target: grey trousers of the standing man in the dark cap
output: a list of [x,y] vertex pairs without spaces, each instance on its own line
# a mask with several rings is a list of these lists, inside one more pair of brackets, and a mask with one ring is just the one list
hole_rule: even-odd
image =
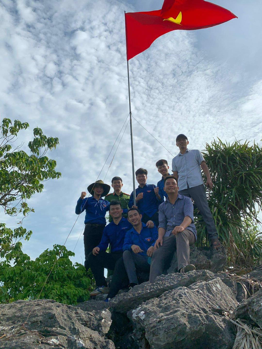
[[187,186],[187,189],[180,190],[179,194],[188,196],[189,198],[192,198],[194,200],[194,203],[196,204],[199,212],[203,217],[204,222],[206,223],[209,239],[218,238],[214,218],[208,206],[204,184],[197,185],[192,188],[189,188],[189,186]]

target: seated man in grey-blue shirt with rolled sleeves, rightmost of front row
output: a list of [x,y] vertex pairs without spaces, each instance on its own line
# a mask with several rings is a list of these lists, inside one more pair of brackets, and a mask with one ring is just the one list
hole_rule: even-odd
[[178,193],[177,179],[165,178],[165,192],[168,198],[159,206],[158,239],[154,245],[149,281],[163,273],[166,263],[176,251],[178,272],[196,270],[189,263],[189,245],[196,241],[193,204],[190,198]]

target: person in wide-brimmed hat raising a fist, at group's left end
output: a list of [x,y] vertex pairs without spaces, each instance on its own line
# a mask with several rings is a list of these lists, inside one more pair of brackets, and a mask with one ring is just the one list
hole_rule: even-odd
[[75,213],[79,215],[86,210],[84,246],[85,246],[85,268],[88,270],[89,265],[87,257],[93,248],[99,245],[105,227],[105,214],[109,210],[110,202],[102,199],[110,191],[110,185],[105,184],[101,179],[95,181],[87,187],[88,192],[92,195],[85,198],[86,192],[82,192],[75,207]]

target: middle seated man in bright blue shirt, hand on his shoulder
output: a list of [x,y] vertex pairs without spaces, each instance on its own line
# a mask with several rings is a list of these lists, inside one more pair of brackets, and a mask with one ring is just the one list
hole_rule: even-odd
[[128,221],[133,225],[124,239],[123,257],[116,262],[114,276],[106,302],[115,297],[122,284],[133,287],[138,284],[137,270],[149,272],[148,258],[152,257],[157,228],[141,222],[142,215],[137,208],[128,210]]

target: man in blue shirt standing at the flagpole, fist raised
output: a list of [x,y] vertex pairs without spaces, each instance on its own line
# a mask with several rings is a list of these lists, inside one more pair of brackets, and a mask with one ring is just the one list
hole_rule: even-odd
[[[151,220],[155,223],[155,226],[158,227],[158,206],[164,201],[164,198],[159,194],[158,188],[154,184],[146,184],[146,169],[138,169],[136,171],[136,179],[139,183],[139,186],[136,189],[136,203],[142,214],[142,222],[146,223],[148,220]],[[134,196],[132,192],[128,207],[131,208],[133,203]]]

